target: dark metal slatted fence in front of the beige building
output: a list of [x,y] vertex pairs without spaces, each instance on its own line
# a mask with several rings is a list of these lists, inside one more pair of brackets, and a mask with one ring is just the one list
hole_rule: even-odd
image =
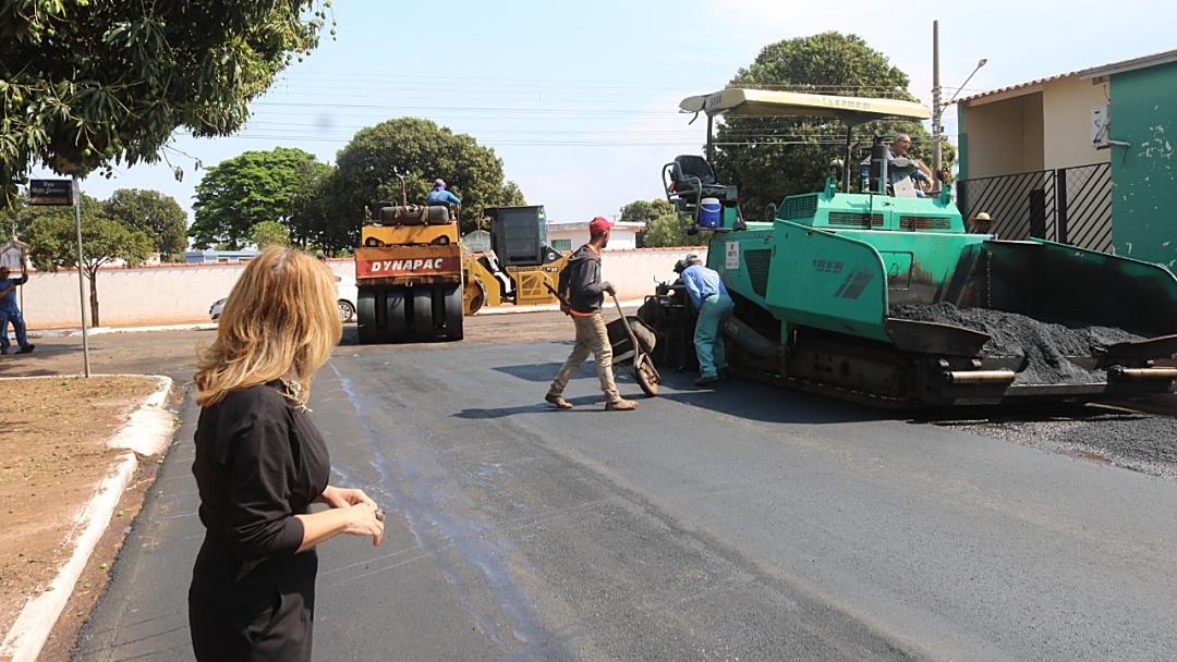
[[1109,163],[960,180],[957,207],[965,219],[989,214],[1002,239],[1033,236],[1112,249]]

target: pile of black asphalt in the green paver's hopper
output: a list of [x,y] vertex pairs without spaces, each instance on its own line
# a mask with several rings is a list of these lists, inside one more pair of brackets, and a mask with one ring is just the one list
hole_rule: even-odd
[[1049,323],[1017,313],[989,308],[957,308],[951,303],[907,305],[891,309],[902,320],[936,322],[979,330],[991,337],[985,342],[985,356],[1020,359],[1015,385],[1098,383],[1108,379],[1105,370],[1086,369],[1068,361],[1068,356],[1092,356],[1099,349],[1141,336],[1116,327],[1068,326]]

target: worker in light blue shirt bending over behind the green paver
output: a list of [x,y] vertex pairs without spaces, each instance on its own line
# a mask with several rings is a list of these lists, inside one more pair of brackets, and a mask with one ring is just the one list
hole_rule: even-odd
[[724,323],[732,316],[736,305],[727,295],[727,286],[714,269],[703,266],[694,253],[683,260],[683,286],[691,303],[699,310],[694,322],[694,354],[699,359],[699,379],[696,386],[709,386],[719,381],[719,374],[727,369],[724,352]]

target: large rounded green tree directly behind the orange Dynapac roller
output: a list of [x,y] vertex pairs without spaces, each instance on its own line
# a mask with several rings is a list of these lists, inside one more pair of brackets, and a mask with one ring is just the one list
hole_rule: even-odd
[[399,203],[401,182],[408,203],[423,205],[433,180],[445,180],[461,199],[461,232],[476,228],[484,207],[521,203],[514,182],[504,182],[494,149],[466,134],[454,134],[430,120],[401,118],[363,128],[335,158],[332,222],[346,228],[351,246],[359,241],[364,208],[381,200]]

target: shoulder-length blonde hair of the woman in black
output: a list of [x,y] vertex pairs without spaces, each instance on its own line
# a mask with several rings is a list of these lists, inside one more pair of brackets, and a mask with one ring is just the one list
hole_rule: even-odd
[[339,343],[331,269],[294,248],[271,247],[233,286],[212,347],[197,349],[197,403],[215,404],[240,388],[285,379],[305,407],[314,372]]

